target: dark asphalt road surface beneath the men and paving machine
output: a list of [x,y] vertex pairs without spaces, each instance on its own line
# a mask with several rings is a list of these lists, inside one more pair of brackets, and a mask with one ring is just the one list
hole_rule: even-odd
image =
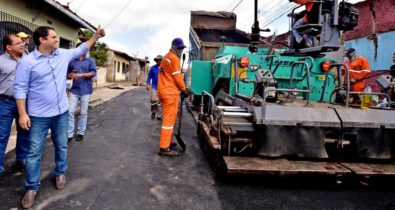
[[[90,110],[84,140],[69,144],[68,185],[60,191],[48,140],[34,209],[395,209],[393,179],[366,187],[330,177],[217,177],[184,111],[187,151],[169,158],[157,154],[160,121],[150,119],[144,88]],[[23,174],[8,170],[0,178],[0,209],[20,208],[23,192]]]

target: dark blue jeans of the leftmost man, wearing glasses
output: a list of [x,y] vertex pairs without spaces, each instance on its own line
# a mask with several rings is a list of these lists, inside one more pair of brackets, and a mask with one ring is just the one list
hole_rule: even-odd
[[12,121],[14,119],[17,129],[15,148],[16,160],[24,162],[28,152],[29,132],[23,130],[21,126],[19,126],[19,115],[15,99],[8,99],[0,96],[0,173],[4,171],[4,153],[7,148]]

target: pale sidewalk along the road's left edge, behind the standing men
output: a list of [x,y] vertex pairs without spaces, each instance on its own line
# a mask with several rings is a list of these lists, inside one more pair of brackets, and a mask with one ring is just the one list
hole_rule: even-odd
[[[98,86],[95,86],[89,101],[89,109],[93,109],[97,106],[100,106],[103,103],[106,103],[107,101],[137,87],[138,86],[132,86],[131,82],[120,82],[117,84],[103,83]],[[10,139],[8,140],[8,145],[5,154],[14,150],[15,144],[16,144],[16,131],[15,131],[15,124],[13,124]]]

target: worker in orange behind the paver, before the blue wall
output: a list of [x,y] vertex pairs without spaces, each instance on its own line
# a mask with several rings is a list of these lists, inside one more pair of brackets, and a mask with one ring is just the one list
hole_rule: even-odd
[[[354,48],[345,51],[347,58],[345,64],[350,72],[350,91],[363,92],[365,89],[365,78],[370,74],[370,65],[368,59],[357,55]],[[354,95],[353,101],[358,102],[359,96]]]

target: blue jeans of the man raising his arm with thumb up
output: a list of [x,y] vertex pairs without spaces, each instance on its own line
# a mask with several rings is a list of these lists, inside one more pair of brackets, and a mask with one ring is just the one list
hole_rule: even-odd
[[45,139],[51,129],[51,138],[55,147],[55,176],[67,170],[67,118],[68,112],[54,117],[30,116],[29,154],[26,159],[25,188],[38,191],[40,188],[41,157]]

